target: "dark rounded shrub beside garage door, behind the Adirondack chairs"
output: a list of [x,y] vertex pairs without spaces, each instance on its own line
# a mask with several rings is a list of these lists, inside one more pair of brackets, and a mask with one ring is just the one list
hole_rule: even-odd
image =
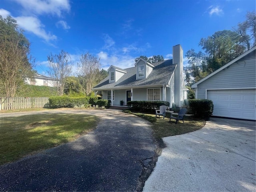
[[188,111],[194,114],[195,117],[208,119],[213,112],[213,102],[208,99],[186,99],[184,106]]

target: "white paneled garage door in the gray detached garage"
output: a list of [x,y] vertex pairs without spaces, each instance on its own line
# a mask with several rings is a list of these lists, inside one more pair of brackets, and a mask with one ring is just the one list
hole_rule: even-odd
[[208,90],[213,101],[213,116],[256,119],[256,90]]

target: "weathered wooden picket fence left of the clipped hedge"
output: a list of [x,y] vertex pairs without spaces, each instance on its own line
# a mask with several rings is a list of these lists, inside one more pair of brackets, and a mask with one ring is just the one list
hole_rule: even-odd
[[48,97],[9,97],[0,99],[0,110],[49,107]]

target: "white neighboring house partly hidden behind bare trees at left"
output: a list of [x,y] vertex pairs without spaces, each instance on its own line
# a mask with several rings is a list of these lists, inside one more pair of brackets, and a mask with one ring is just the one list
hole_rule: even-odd
[[44,75],[36,73],[33,80],[27,79],[26,83],[29,85],[38,85],[38,86],[49,86],[53,87],[55,79],[46,77]]

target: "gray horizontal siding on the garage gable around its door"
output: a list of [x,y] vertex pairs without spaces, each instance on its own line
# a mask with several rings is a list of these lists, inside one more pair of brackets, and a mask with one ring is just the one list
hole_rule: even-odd
[[[255,54],[255,52],[254,52]],[[254,88],[256,87],[256,60],[239,60],[228,68],[198,84],[197,98],[206,98],[206,89]]]

